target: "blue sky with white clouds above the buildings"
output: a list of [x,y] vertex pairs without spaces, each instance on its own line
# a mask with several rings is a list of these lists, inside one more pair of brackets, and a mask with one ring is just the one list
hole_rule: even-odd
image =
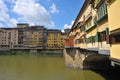
[[0,0],[0,27],[28,23],[63,31],[71,28],[83,3],[84,0]]

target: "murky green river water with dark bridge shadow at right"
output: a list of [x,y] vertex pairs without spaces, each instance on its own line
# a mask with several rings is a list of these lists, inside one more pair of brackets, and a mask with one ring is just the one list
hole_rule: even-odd
[[119,80],[115,72],[68,69],[62,57],[0,56],[0,80]]

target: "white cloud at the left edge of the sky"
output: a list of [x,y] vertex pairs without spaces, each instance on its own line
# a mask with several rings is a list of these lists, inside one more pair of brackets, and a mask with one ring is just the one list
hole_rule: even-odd
[[[18,21],[14,18],[10,18],[10,15],[8,14],[9,10],[3,0],[0,0],[0,5],[1,5],[0,6],[0,21],[6,23],[7,26],[9,26],[9,27],[15,27],[16,26],[15,24]],[[2,23],[0,25],[3,27],[6,27]]]

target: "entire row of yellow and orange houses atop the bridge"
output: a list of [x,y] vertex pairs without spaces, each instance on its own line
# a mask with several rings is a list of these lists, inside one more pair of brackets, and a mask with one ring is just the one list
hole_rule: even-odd
[[89,54],[95,51],[110,56],[113,66],[120,65],[119,3],[119,0],[85,0],[65,47],[77,47],[83,51],[81,53],[84,50]]

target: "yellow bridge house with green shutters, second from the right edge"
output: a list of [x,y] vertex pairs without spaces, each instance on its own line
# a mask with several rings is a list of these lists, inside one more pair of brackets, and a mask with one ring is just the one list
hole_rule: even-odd
[[110,55],[107,2],[106,0],[93,0],[92,4],[94,10],[97,12],[98,29],[96,39],[99,46],[99,53]]

